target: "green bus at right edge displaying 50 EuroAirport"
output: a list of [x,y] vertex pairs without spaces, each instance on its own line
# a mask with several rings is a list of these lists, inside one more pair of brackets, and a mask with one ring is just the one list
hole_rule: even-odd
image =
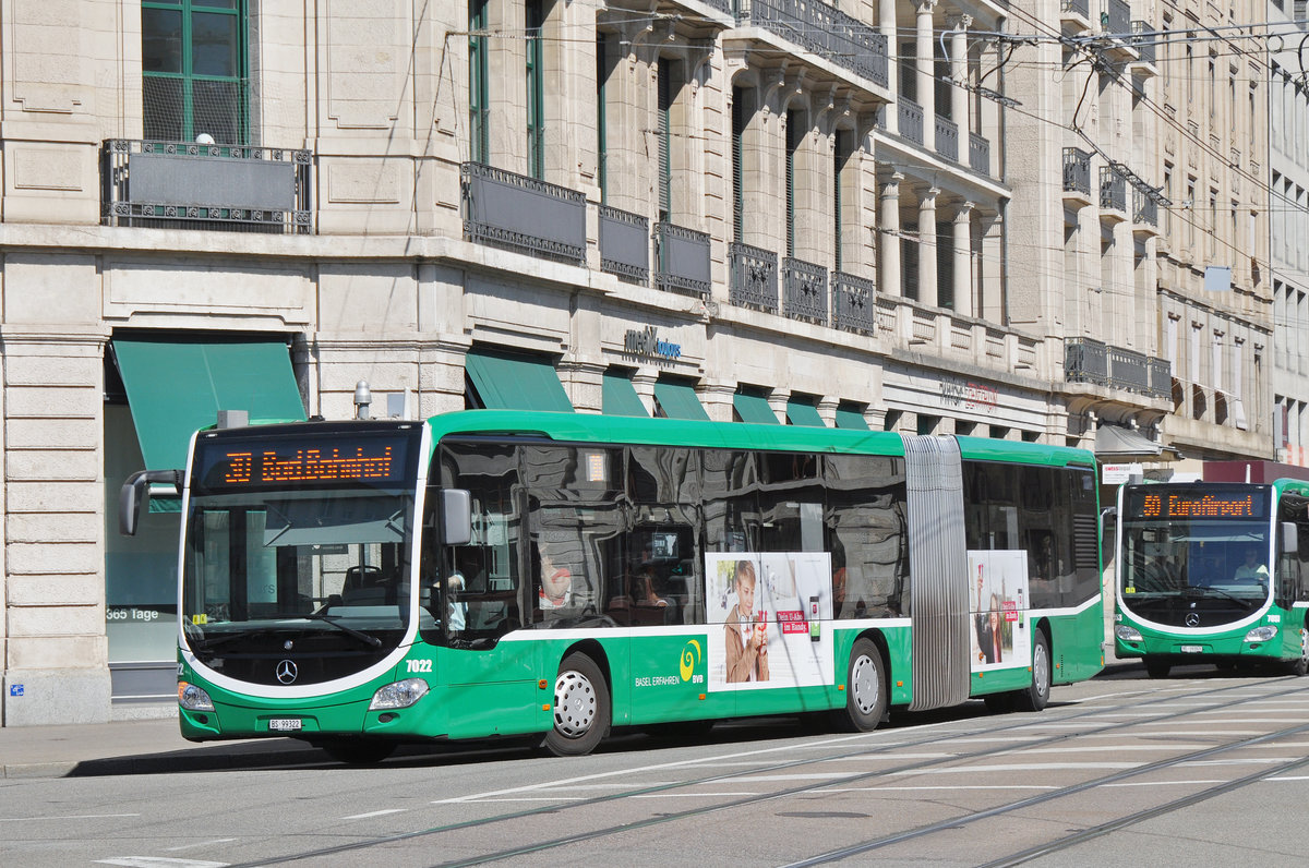
[[1119,657],[1309,672],[1309,482],[1126,484],[1117,539]]

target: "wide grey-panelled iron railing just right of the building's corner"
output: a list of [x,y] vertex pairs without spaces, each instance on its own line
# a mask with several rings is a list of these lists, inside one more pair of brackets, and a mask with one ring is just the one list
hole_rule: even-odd
[[586,263],[586,194],[480,162],[461,166],[463,237]]

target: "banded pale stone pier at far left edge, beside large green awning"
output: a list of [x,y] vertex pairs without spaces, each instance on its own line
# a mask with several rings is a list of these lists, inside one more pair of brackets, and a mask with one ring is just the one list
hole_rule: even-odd
[[107,340],[107,330],[92,323],[5,325],[0,331],[5,460],[0,702],[7,727],[109,720],[103,556],[109,480],[102,479]]

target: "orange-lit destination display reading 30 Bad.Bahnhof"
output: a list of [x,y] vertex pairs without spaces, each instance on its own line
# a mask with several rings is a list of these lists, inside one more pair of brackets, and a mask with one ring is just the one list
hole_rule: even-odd
[[208,491],[315,483],[397,484],[407,479],[403,437],[206,444],[199,486]]

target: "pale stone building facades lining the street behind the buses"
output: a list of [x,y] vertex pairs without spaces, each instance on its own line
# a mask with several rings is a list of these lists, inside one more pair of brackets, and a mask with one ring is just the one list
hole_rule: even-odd
[[[347,418],[360,381],[374,415],[493,405],[473,374],[496,359],[558,376],[579,412],[635,394],[1263,456],[1267,275],[1236,263],[1211,301],[1210,242],[1169,246],[1119,179],[1175,202],[1194,164],[1238,232],[1263,194],[1141,107],[1175,97],[1134,16],[1063,5],[5,7],[4,724],[168,699],[178,515],[164,499],[124,539],[117,496],[219,410]],[[1204,350],[1220,321],[1240,388],[1178,376],[1190,323]]]

